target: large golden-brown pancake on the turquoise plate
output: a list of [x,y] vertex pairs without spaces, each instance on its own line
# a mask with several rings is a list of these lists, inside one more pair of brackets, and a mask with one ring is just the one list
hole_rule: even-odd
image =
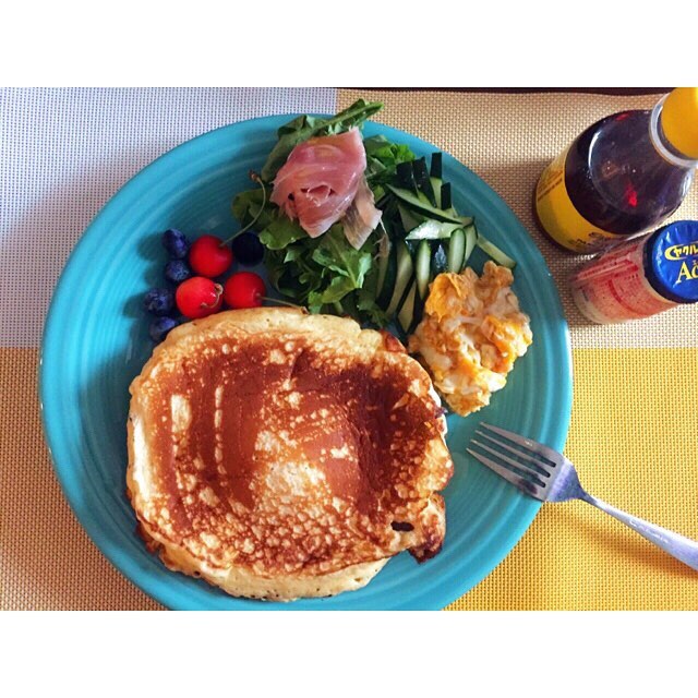
[[172,330],[131,395],[129,495],[172,569],[290,600],[442,546],[443,411],[386,333],[293,309],[219,313]]

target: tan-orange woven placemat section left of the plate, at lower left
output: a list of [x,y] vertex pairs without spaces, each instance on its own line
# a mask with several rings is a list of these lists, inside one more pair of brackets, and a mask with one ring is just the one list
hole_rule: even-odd
[[159,604],[87,538],[41,437],[38,349],[0,349],[0,610],[140,610]]

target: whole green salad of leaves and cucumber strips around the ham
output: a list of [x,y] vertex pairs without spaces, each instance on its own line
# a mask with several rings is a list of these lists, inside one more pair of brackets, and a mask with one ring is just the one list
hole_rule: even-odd
[[293,303],[377,327],[397,321],[409,333],[421,320],[430,281],[445,270],[461,272],[476,245],[498,264],[514,266],[477,231],[471,217],[452,205],[441,153],[432,155],[428,169],[425,158],[407,145],[382,135],[364,139],[365,178],[382,219],[359,250],[348,242],[341,221],[311,238],[268,196],[276,172],[299,143],[360,128],[381,108],[360,99],[329,119],[302,116],[281,127],[261,178],[253,174],[261,188],[238,194],[232,213],[241,226],[258,232],[269,280]]

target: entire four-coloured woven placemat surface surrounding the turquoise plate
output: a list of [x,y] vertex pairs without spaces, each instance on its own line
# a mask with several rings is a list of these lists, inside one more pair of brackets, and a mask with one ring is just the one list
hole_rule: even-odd
[[[698,538],[698,306],[588,324],[566,288],[578,258],[535,228],[545,165],[594,120],[654,94],[333,88],[0,91],[0,609],[159,609],[86,537],[53,476],[38,412],[44,317],[77,238],[152,159],[210,129],[382,99],[381,121],[455,155],[509,204],[558,285],[573,341],[567,456],[588,489]],[[674,218],[698,218],[694,186]],[[698,575],[582,503],[544,506],[521,542],[450,610],[698,607]]]

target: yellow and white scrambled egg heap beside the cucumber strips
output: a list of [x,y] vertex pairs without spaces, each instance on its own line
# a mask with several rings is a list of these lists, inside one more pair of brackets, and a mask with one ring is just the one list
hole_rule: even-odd
[[485,263],[482,277],[471,268],[440,274],[410,337],[409,350],[421,354],[436,389],[464,417],[490,404],[533,340],[513,281],[494,262]]

